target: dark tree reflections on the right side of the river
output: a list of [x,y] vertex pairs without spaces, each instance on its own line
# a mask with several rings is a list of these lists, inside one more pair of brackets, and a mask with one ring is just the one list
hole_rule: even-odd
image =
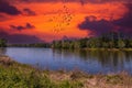
[[[96,62],[96,65],[101,66],[94,68],[98,69],[98,73],[107,73],[107,72],[129,72],[132,73],[132,52],[123,52],[123,51],[65,51],[59,50],[55,51],[56,53],[65,56],[76,55],[81,59],[81,62]],[[92,66],[91,66],[92,69]],[[103,72],[103,69],[106,72]],[[90,72],[90,70],[89,70]]]

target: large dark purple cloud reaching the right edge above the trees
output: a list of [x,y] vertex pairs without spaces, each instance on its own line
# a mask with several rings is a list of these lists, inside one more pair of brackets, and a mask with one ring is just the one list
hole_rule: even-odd
[[[84,22],[78,24],[80,30],[91,31],[96,35],[111,31],[120,31],[125,34],[132,34],[132,4],[125,4],[129,9],[129,12],[119,20],[107,21],[107,20],[97,20],[96,16],[87,16]],[[117,29],[117,26],[119,26]]]

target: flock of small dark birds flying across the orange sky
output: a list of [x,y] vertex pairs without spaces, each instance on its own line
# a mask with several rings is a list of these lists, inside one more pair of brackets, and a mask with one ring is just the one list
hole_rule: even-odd
[[[74,19],[75,14],[72,12],[66,4],[68,1],[63,0],[63,8],[56,10],[56,15],[54,15],[50,22],[54,22],[53,31],[56,34],[64,31],[67,26],[72,24],[72,20]],[[80,4],[84,6],[84,0],[80,0]]]

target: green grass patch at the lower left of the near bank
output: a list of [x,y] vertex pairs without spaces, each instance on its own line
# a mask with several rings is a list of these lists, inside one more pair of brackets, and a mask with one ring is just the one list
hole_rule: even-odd
[[63,80],[54,82],[48,73],[28,65],[13,63],[0,65],[0,88],[81,88],[79,81]]

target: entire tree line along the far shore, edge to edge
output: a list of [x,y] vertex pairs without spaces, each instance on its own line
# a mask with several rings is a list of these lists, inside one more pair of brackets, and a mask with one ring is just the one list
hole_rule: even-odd
[[53,43],[34,44],[7,44],[7,40],[0,38],[0,47],[52,47],[52,48],[132,48],[132,37],[123,33],[110,32],[95,37],[79,40],[63,38]]

